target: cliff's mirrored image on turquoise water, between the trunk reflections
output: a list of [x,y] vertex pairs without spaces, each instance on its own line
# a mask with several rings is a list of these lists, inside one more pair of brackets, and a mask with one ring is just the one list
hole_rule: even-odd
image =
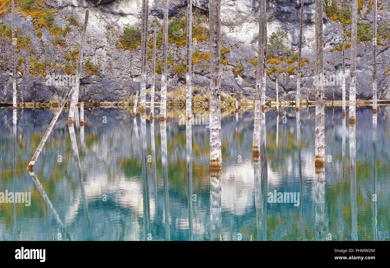
[[[389,123],[388,111],[378,109],[377,126],[377,170],[376,191],[381,198],[377,202],[377,236],[381,240],[388,235],[388,163],[389,155]],[[18,109],[18,137],[16,184],[19,191],[32,191],[33,204],[30,208],[17,205],[16,229],[19,233],[29,233],[27,239],[54,239],[60,232],[57,223],[53,223],[54,215],[47,209],[43,198],[37,191],[31,177],[25,172],[25,166],[31,158],[35,147],[49,124],[52,112],[47,109]],[[299,179],[299,158],[296,144],[296,113],[293,109],[281,109],[279,118],[279,140],[276,147],[276,111],[267,109],[265,113],[266,145],[267,145],[267,191],[301,191],[306,237],[316,239],[316,226],[328,222],[326,226],[334,239],[348,239],[351,236],[351,185],[349,172],[342,179],[342,126],[341,111],[326,110],[326,154],[332,156],[324,171],[326,184],[318,184],[312,161],[314,155],[314,109],[300,111],[301,127],[301,165],[302,190]],[[180,113],[176,111],[176,114]],[[365,107],[357,109],[356,125],[356,207],[370,211],[373,207],[369,200],[359,198],[372,191],[372,180],[367,180],[372,172],[371,119],[367,114],[372,110]],[[148,113],[147,113],[148,114]],[[103,124],[102,117],[107,117]],[[220,186],[213,184],[213,195],[220,195],[220,214],[216,210],[214,226],[220,230],[222,238],[236,239],[238,232],[243,240],[255,234],[256,198],[259,200],[259,185],[255,185],[254,167],[252,164],[253,111],[240,111],[239,120],[235,114],[225,114],[222,119],[223,162]],[[283,123],[285,116],[285,123]],[[88,217],[91,235],[86,234],[84,205],[76,161],[74,159],[71,139],[67,126],[67,114],[62,114],[55,125],[47,145],[38,159],[34,171],[38,175],[44,190],[55,207],[59,218],[72,233],[72,239],[144,239],[144,200],[149,200],[150,229],[152,239],[166,239],[165,200],[163,171],[161,165],[160,124],[154,123],[156,147],[157,186],[154,188],[153,165],[147,164],[147,184],[149,193],[145,193],[142,181],[142,132],[146,133],[147,155],[151,154],[151,129],[146,118],[146,131],[142,130],[137,117],[138,138],[133,127],[131,114],[121,109],[96,108],[86,110],[87,126],[84,128],[85,148],[81,146],[80,129],[75,128],[76,141],[80,154],[85,199],[88,204]],[[34,121],[35,120],[35,121]],[[39,121],[38,121],[39,120]],[[178,125],[179,118],[168,117],[167,129],[167,189],[170,238],[188,239],[188,185],[186,180],[186,126]],[[360,124],[359,124],[360,122]],[[251,125],[252,124],[252,125]],[[0,109],[1,180],[0,191],[13,187],[13,130],[12,109]],[[347,128],[348,129],[348,128]],[[363,131],[368,129],[369,131]],[[211,229],[210,219],[210,176],[208,130],[204,125],[192,125],[192,192],[197,195],[193,202],[193,238],[208,239]],[[346,131],[346,169],[349,170],[349,135]],[[3,154],[4,152],[4,154]],[[57,156],[62,155],[62,162]],[[238,162],[241,155],[242,162]],[[326,158],[327,159],[327,158]],[[264,163],[262,163],[264,164]],[[263,174],[263,172],[262,172]],[[321,187],[320,187],[321,186]],[[353,188],[355,192],[355,188]],[[219,191],[219,193],[218,193]],[[217,194],[218,193],[218,194]],[[103,195],[107,202],[102,202]],[[148,196],[148,197],[147,197]],[[8,209],[0,204],[0,238],[11,239],[13,228],[13,208]],[[215,207],[216,209],[218,206]],[[297,239],[302,237],[301,208],[292,204],[267,204],[266,225],[261,231],[267,239]],[[316,220],[317,212],[317,220]],[[259,215],[264,213],[259,210]],[[372,213],[368,213],[372,215]],[[220,216],[218,216],[220,215]],[[149,217],[149,216],[147,216]],[[386,218],[387,217],[387,218]],[[10,220],[11,219],[11,220]],[[24,224],[25,222],[31,224]],[[220,221],[220,222],[219,222]],[[264,220],[262,220],[264,222]],[[356,224],[355,224],[356,223]],[[317,224],[317,225],[316,225]],[[354,222],[356,230],[372,230],[372,219],[368,221],[357,218]],[[355,230],[354,226],[354,230]],[[217,230],[215,229],[215,230]],[[340,231],[339,231],[340,230]],[[372,231],[371,231],[372,232]],[[339,234],[335,238],[335,234]],[[219,236],[218,236],[219,237]],[[360,237],[359,237],[360,238]]]

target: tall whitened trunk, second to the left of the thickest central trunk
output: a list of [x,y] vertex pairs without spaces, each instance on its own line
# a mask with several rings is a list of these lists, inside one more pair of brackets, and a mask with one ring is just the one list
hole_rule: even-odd
[[160,120],[167,118],[168,0],[164,0],[163,64],[161,69]]

